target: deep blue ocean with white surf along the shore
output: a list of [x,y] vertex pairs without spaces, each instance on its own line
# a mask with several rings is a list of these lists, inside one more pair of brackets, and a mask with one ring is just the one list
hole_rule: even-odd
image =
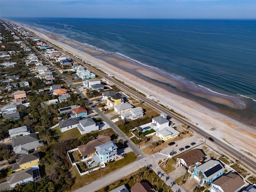
[[[100,50],[105,54],[95,56],[103,60],[116,56],[152,68],[181,86],[155,83],[256,126],[256,20],[6,19]],[[193,90],[229,98],[237,107]]]

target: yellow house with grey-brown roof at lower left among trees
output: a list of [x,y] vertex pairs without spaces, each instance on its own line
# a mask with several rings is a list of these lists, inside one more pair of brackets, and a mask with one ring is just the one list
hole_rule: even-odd
[[27,169],[32,166],[38,165],[40,156],[38,152],[34,152],[28,155],[24,155],[16,160],[16,163],[12,164],[12,171],[20,171],[22,169]]

